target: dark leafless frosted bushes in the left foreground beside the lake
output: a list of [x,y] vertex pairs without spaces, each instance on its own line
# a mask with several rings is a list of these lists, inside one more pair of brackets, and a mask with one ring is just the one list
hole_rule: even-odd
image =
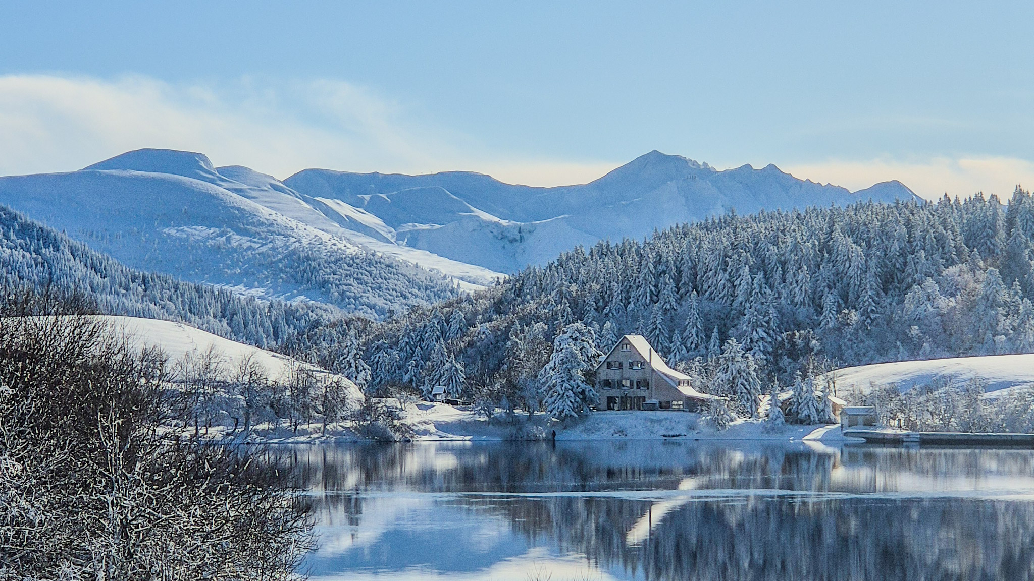
[[287,472],[176,429],[162,358],[48,306],[0,311],[2,576],[292,578],[311,523]]

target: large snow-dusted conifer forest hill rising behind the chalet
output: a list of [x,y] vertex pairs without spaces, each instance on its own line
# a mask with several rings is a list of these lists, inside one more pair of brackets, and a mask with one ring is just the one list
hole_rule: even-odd
[[461,368],[469,395],[512,401],[557,329],[579,320],[601,348],[641,333],[673,362],[736,338],[781,381],[811,356],[861,364],[1030,351],[1032,240],[1034,203],[1018,188],[1007,206],[978,194],[727,215],[576,248],[414,310],[370,337],[367,357],[375,381],[419,388]]

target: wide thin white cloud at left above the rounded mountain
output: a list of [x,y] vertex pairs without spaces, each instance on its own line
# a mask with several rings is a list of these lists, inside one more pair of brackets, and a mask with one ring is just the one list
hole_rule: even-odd
[[72,171],[145,147],[199,151],[217,165],[247,165],[279,178],[306,167],[469,170],[555,185],[595,179],[616,165],[500,161],[463,151],[454,143],[470,140],[450,142],[448,132],[406,121],[404,114],[398,103],[334,81],[243,79],[213,87],[144,77],[4,75],[0,175]]

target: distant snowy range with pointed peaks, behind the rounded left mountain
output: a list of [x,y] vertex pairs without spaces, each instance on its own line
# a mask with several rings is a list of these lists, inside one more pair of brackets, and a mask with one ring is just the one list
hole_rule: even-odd
[[[305,170],[283,183],[331,209],[343,209],[341,218],[334,218],[343,227],[374,230],[385,241],[504,272],[545,263],[579,244],[638,239],[729,209],[747,214],[915,197],[900,182],[852,193],[799,180],[770,164],[719,172],[658,151],[588,184],[552,188],[510,185],[469,172],[405,176]],[[357,212],[361,219],[353,216]]]

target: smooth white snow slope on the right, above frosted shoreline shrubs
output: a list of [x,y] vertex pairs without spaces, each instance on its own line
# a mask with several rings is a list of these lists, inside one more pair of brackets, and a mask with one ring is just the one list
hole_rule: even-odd
[[935,380],[962,384],[973,378],[987,383],[987,391],[1034,388],[1034,355],[956,357],[845,367],[835,372],[837,389],[869,391],[872,386],[896,384],[902,390]]

